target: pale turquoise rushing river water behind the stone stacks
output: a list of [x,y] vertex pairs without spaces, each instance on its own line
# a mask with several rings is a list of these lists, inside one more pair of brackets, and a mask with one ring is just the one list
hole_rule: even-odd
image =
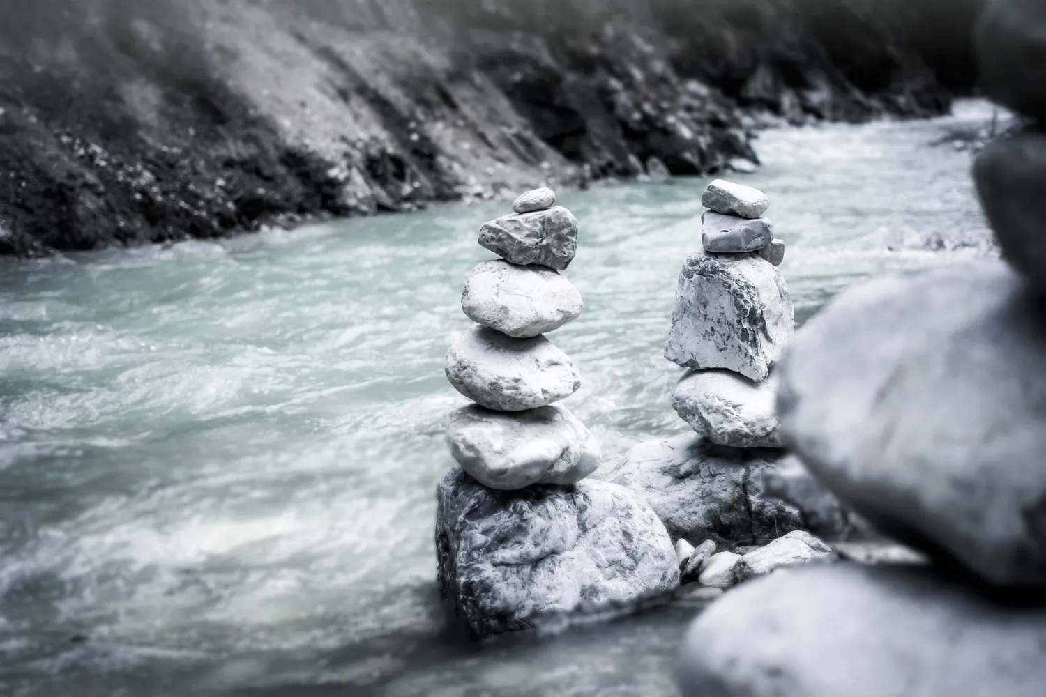
[[[986,118],[766,132],[801,323],[863,278],[993,253]],[[608,458],[685,432],[661,357],[705,180],[561,196],[579,320],[552,334]],[[442,357],[504,203],[0,264],[0,694],[673,695],[680,603],[463,638],[434,582]]]

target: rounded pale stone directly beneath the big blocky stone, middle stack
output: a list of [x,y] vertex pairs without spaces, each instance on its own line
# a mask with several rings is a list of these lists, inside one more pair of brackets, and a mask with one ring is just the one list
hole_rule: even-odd
[[752,382],[727,370],[687,373],[672,391],[672,405],[695,433],[732,447],[780,447],[777,379]]

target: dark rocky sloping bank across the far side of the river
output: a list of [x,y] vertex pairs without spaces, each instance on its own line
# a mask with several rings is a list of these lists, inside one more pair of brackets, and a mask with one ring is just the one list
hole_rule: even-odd
[[770,117],[946,111],[980,4],[3,3],[0,252],[723,170]]

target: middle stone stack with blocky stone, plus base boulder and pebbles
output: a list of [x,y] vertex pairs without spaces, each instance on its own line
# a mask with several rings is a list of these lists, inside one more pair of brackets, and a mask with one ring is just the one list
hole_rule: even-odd
[[[636,446],[607,480],[651,502],[678,540],[684,578],[726,587],[738,580],[735,571],[768,567],[728,549],[791,534],[758,559],[817,558],[829,550],[805,531],[840,536],[846,519],[831,496],[822,510],[806,511],[765,483],[789,462],[780,449],[773,367],[795,323],[776,269],[784,243],[763,217],[770,201],[757,189],[717,180],[702,204],[709,209],[702,216],[703,250],[687,258],[679,276],[664,351],[689,369],[673,391],[673,405],[696,435]],[[724,551],[714,554],[719,548]]]

